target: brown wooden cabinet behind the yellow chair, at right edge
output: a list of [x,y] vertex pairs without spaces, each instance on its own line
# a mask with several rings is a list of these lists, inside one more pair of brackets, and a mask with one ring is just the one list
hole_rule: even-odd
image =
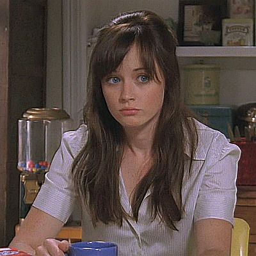
[[249,256],[256,255],[256,186],[237,187],[235,216],[250,225]]

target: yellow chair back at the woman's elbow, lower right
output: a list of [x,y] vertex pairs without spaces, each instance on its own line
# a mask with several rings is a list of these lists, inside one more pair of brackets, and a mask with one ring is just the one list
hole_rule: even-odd
[[231,256],[248,256],[250,226],[240,218],[235,218],[232,230]]

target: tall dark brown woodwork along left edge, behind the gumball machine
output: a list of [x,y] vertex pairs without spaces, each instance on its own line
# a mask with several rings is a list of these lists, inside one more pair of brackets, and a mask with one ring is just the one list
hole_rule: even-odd
[[0,246],[19,223],[17,120],[45,106],[45,0],[0,0]]

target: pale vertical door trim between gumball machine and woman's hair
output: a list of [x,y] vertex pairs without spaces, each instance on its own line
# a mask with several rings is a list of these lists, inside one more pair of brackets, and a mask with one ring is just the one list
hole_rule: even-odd
[[83,106],[86,101],[85,7],[83,0],[62,0],[62,108],[74,120],[76,127],[83,122]]

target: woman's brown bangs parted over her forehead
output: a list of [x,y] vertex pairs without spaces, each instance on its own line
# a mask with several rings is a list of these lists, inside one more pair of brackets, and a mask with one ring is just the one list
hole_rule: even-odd
[[156,72],[157,52],[150,35],[152,33],[143,24],[136,24],[136,26],[120,24],[114,28],[103,28],[93,54],[95,60],[92,61],[94,63],[92,68],[95,75],[101,80],[114,72],[132,45],[136,44],[143,68],[147,70],[149,76],[159,81]]

